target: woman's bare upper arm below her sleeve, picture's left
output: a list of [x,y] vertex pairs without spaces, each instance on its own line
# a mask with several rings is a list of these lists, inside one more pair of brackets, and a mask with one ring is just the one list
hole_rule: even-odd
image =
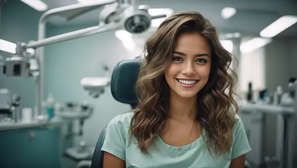
[[108,152],[104,152],[103,168],[125,168],[125,161]]

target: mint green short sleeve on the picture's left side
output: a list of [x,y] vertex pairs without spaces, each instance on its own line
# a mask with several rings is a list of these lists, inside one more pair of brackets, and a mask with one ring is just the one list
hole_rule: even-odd
[[116,118],[110,121],[106,127],[106,135],[101,151],[108,152],[125,161],[126,138],[125,131],[121,126]]

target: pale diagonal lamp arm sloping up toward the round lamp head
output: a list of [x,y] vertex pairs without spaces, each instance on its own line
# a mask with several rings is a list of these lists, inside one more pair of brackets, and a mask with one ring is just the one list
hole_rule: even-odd
[[117,28],[120,24],[119,23],[109,23],[105,25],[99,25],[99,26],[94,26],[90,28],[85,28],[57,36],[53,36],[47,39],[39,40],[36,42],[29,42],[25,45],[25,48],[38,48],[41,46],[49,45],[49,44],[54,44],[58,42],[65,42],[73,39],[78,39],[110,30],[114,30]]

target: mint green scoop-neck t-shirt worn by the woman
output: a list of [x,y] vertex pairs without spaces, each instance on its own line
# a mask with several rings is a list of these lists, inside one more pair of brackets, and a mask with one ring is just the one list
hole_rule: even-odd
[[166,144],[160,137],[151,145],[148,154],[142,153],[132,141],[130,122],[133,113],[124,113],[113,118],[106,128],[101,148],[124,161],[126,168],[229,168],[231,160],[250,151],[244,125],[238,115],[233,131],[233,145],[229,153],[221,156],[210,155],[202,132],[193,143],[175,147]]

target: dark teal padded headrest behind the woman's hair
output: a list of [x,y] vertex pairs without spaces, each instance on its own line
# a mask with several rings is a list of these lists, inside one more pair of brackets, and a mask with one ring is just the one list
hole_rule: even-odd
[[138,104],[135,84],[142,62],[142,60],[125,60],[114,67],[110,89],[115,100],[132,106]]

